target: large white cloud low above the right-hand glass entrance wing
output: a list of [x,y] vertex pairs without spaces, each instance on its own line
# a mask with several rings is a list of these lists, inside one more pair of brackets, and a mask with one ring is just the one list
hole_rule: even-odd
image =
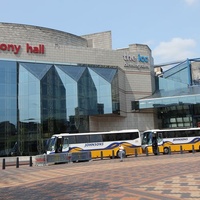
[[152,51],[154,62],[164,63],[193,58],[195,46],[196,42],[193,39],[172,38],[171,41],[161,42]]

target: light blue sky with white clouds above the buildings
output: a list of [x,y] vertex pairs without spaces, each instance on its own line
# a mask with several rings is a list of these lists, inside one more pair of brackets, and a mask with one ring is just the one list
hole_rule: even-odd
[[111,31],[113,50],[129,44],[146,44],[154,64],[200,57],[200,0],[0,0],[0,3],[0,22],[41,26],[78,36]]

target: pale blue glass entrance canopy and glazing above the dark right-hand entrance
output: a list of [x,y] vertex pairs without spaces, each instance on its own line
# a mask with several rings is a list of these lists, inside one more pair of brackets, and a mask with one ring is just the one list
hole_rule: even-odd
[[156,76],[155,88],[153,95],[132,102],[133,110],[200,104],[200,58],[187,59]]

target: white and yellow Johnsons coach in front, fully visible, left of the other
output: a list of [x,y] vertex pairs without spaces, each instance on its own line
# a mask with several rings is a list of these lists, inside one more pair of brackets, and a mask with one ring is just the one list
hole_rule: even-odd
[[125,156],[140,154],[141,138],[137,129],[94,132],[94,133],[60,133],[51,137],[47,154],[60,152],[90,151],[92,158],[119,157],[119,145],[123,145]]

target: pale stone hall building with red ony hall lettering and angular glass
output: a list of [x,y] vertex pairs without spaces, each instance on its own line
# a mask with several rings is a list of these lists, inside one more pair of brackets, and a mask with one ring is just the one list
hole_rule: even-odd
[[[167,83],[162,85],[158,79],[177,81],[175,72],[185,66],[188,70],[192,61],[166,77],[163,72],[156,76],[147,45],[113,50],[110,31],[77,36],[0,23],[0,33],[0,156],[10,155],[16,148],[20,155],[43,153],[45,141],[55,133],[144,131],[169,128],[164,120],[173,123],[180,118],[166,114],[173,109],[170,103],[171,110],[166,109],[162,95],[173,96],[173,106],[177,97],[167,93],[171,86],[165,88]],[[188,82],[179,84],[183,91]],[[175,85],[173,91],[179,86]],[[186,108],[181,102],[190,104],[178,100],[181,111]],[[182,123],[190,119],[190,115],[182,116]],[[193,125],[191,120],[187,123]]]

